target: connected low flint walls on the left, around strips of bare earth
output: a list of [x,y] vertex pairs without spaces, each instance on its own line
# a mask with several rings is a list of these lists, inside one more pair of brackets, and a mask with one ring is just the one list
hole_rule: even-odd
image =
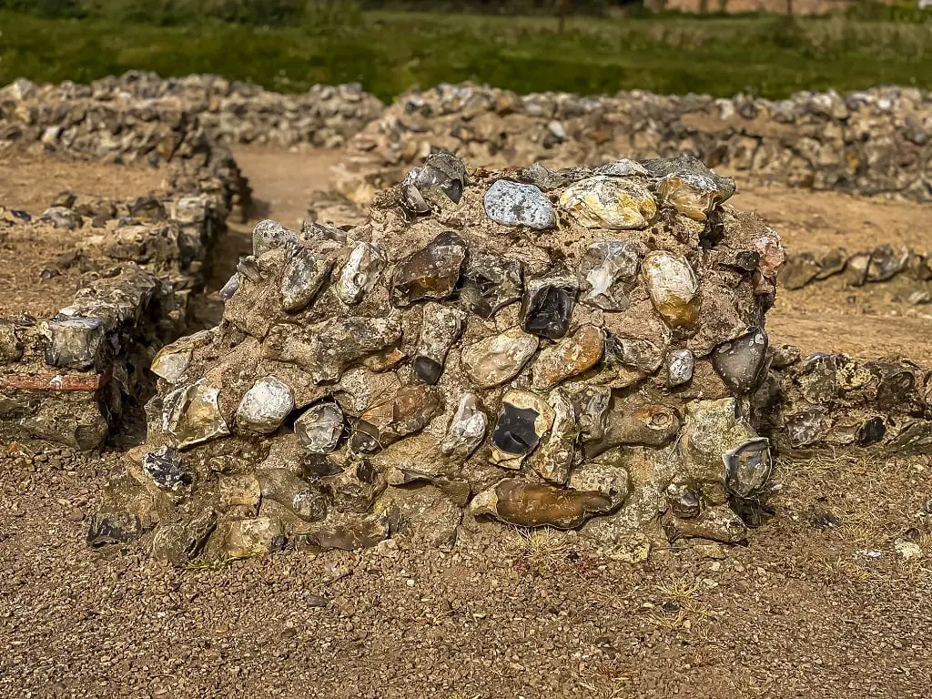
[[71,249],[45,273],[81,271],[52,317],[0,318],[0,441],[89,450],[125,404],[154,391],[148,366],[185,331],[188,301],[250,190],[194,117],[152,105],[44,103],[27,87],[0,90],[0,148],[147,163],[164,174],[159,191],[135,199],[66,191],[35,218],[0,206],[0,237],[67,240]]

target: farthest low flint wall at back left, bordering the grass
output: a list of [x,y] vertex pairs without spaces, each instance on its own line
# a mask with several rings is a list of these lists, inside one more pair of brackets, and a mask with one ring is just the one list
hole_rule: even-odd
[[315,85],[300,94],[281,94],[219,75],[161,78],[132,71],[90,85],[35,87],[18,81],[17,91],[48,104],[138,103],[171,106],[196,116],[221,144],[311,144],[336,148],[376,118],[384,105],[358,85]]

